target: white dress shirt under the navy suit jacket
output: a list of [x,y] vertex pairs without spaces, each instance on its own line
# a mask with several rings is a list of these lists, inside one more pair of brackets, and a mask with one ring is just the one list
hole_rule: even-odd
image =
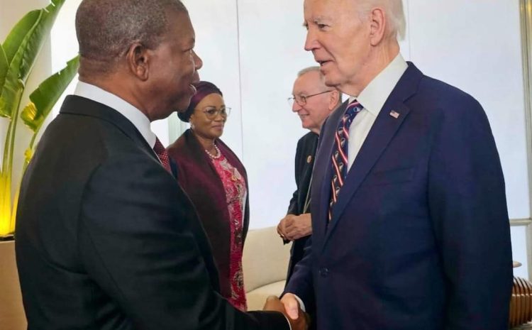
[[357,99],[364,108],[355,116],[353,123],[349,127],[348,171],[353,165],[360,148],[362,148],[367,133],[370,133],[380,109],[384,106],[384,102],[388,99],[389,94],[392,93],[407,67],[408,65],[401,53],[397,54],[394,60],[389,62],[389,65],[367,84],[358,97],[349,98],[349,102]]

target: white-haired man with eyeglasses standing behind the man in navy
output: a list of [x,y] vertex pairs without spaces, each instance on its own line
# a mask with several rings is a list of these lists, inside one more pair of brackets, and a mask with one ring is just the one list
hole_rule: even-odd
[[301,126],[308,129],[297,142],[295,159],[295,177],[297,189],[290,199],[285,216],[277,226],[277,233],[285,243],[294,241],[290,252],[287,280],[294,265],[303,257],[303,248],[312,233],[310,216],[310,190],[314,155],[318,145],[321,125],[331,112],[341,103],[341,94],[337,89],[327,87],[319,67],[306,67],[297,74],[288,101],[301,119]]

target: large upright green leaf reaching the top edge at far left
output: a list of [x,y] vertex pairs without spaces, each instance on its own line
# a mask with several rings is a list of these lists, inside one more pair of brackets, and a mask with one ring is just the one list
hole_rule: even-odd
[[[18,109],[26,79],[64,3],[65,0],[52,0],[45,9],[31,11],[21,20],[22,23],[16,24],[11,31],[15,35],[11,36],[9,33],[6,38],[3,48],[9,62],[9,70],[0,92],[0,104],[4,104],[0,107],[0,116],[12,118]],[[21,38],[21,35],[24,37]],[[13,53],[15,48],[16,52]]]

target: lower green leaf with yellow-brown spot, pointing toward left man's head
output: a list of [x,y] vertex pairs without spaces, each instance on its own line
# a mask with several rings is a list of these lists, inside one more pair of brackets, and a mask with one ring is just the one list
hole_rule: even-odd
[[30,95],[30,103],[23,109],[21,119],[34,133],[50,114],[52,107],[77,73],[79,56],[67,62],[67,66],[48,77]]

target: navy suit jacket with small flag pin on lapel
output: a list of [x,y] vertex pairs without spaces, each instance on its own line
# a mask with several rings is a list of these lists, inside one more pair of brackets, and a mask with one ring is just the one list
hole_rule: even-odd
[[328,223],[334,132],[345,107],[321,130],[311,248],[285,292],[304,302],[314,292],[320,330],[507,329],[509,219],[482,106],[409,63]]

